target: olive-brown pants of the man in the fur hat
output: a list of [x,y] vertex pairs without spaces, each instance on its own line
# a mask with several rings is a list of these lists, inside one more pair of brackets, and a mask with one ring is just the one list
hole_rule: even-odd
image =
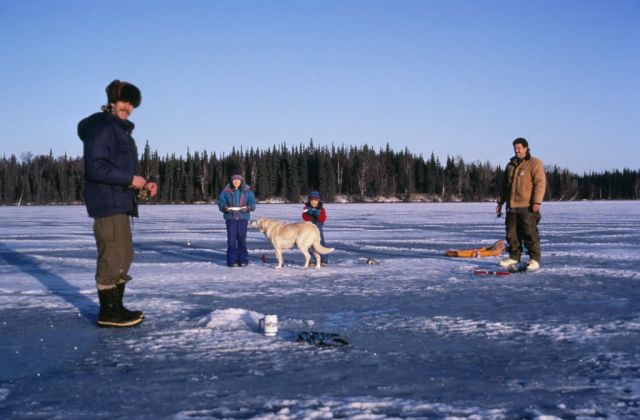
[[96,217],[93,235],[98,248],[96,287],[98,290],[106,290],[125,283],[129,279],[127,273],[133,262],[129,216],[116,214]]

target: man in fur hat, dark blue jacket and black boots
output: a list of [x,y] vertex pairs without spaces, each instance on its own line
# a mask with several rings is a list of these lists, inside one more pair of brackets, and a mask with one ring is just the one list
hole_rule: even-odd
[[129,218],[138,217],[137,194],[144,191],[154,197],[158,187],[136,175],[138,152],[131,137],[135,125],[129,116],[140,105],[140,90],[131,83],[114,80],[106,91],[107,104],[102,112],[78,124],[78,136],[84,143],[84,196],[87,212],[94,218],[98,248],[98,325],[131,327],[141,323],[144,315],[122,303],[133,261]]

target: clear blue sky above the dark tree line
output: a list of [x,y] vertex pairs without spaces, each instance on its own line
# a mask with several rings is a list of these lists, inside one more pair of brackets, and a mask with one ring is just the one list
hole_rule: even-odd
[[638,0],[0,0],[0,156],[82,154],[135,83],[139,146],[389,143],[501,164],[640,168]]

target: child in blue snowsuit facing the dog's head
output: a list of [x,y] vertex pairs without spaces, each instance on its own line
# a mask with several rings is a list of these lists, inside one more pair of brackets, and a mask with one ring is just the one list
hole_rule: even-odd
[[227,224],[227,266],[245,267],[249,264],[247,226],[250,212],[256,209],[256,197],[242,175],[231,176],[231,182],[220,193],[218,208]]

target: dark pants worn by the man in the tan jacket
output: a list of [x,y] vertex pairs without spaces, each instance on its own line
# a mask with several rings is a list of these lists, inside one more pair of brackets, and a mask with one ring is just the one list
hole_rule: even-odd
[[506,230],[509,258],[520,261],[524,244],[529,252],[529,258],[540,262],[538,223],[541,218],[540,212],[534,213],[529,209],[507,210]]

